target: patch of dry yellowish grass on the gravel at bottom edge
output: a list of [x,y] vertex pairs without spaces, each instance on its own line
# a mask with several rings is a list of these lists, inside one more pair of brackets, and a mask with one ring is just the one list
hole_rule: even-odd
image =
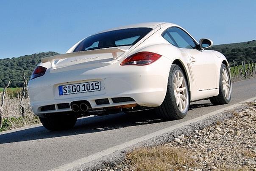
[[127,162],[131,165],[131,170],[136,171],[167,171],[179,169],[182,166],[194,167],[195,160],[188,153],[188,149],[168,147],[140,148],[127,155]]

